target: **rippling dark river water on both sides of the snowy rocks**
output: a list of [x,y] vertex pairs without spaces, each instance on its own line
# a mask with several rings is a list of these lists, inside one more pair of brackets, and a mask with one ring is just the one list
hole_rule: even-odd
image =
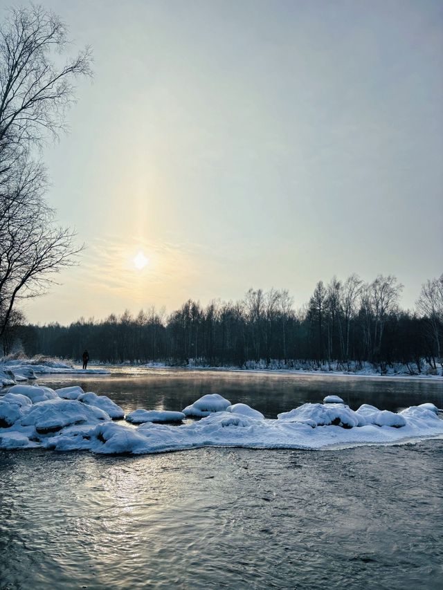
[[[126,412],[206,393],[274,418],[339,394],[443,407],[443,382],[121,369],[48,376]],[[440,589],[443,441],[143,457],[0,452],[0,588]]]

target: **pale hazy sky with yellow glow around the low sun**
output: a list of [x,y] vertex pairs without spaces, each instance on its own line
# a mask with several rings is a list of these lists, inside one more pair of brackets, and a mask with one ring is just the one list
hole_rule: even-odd
[[43,5],[95,77],[44,153],[87,250],[29,320],[443,272],[440,0]]

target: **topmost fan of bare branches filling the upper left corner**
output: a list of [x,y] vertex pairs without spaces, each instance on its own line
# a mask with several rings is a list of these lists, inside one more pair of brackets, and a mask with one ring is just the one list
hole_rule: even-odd
[[68,46],[66,25],[42,6],[12,9],[0,27],[0,146],[9,154],[64,129],[73,81],[91,75],[89,48],[55,65]]

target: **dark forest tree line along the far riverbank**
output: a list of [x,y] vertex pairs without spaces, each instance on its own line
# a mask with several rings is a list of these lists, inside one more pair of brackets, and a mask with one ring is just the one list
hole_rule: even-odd
[[349,370],[371,362],[383,372],[401,362],[420,372],[425,362],[436,369],[443,362],[443,275],[423,284],[413,311],[399,307],[402,288],[392,275],[370,283],[351,275],[318,282],[299,310],[287,290],[251,288],[237,302],[202,306],[189,299],[169,315],[151,307],[69,326],[16,324],[3,338],[3,352],[19,342],[28,356],[80,359],[87,349],[91,360],[111,363],[294,367],[301,360]]

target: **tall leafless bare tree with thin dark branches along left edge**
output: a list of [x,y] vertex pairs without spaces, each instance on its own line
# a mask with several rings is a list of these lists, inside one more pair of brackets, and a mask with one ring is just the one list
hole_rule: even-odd
[[54,223],[35,160],[65,127],[75,78],[91,74],[88,48],[57,65],[68,45],[66,26],[41,6],[12,9],[0,26],[0,336],[17,301],[42,293],[79,250]]

